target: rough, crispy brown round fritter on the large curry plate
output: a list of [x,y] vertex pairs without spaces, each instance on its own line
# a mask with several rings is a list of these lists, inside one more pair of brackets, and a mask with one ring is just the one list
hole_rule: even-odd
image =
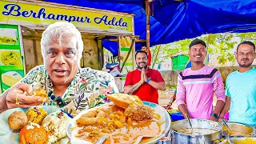
[[134,121],[151,120],[154,117],[154,110],[146,105],[131,105],[126,108],[125,115]]

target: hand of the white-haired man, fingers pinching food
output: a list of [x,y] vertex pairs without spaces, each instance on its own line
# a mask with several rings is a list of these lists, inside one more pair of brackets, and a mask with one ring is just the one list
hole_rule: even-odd
[[26,83],[18,83],[10,88],[6,95],[8,109],[15,107],[29,108],[30,106],[38,106],[42,102],[46,102],[46,98],[29,96],[31,93],[32,87]]

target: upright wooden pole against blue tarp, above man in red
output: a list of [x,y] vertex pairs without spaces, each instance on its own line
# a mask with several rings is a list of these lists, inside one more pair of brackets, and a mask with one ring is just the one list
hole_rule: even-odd
[[146,2],[146,48],[150,48],[150,2]]

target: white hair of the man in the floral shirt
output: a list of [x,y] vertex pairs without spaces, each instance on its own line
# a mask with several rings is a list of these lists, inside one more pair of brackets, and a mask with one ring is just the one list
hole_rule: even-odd
[[55,22],[46,28],[42,33],[41,38],[41,52],[44,62],[46,62],[46,47],[50,45],[50,42],[58,40],[58,43],[62,44],[62,38],[69,36],[71,41],[75,42],[76,57],[78,64],[82,58],[83,42],[81,33],[78,29],[70,22]]

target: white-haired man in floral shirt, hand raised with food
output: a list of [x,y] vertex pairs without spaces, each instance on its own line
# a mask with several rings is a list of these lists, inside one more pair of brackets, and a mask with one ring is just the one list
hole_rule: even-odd
[[[76,115],[105,102],[105,94],[118,92],[114,78],[105,72],[80,68],[83,42],[70,22],[55,22],[42,33],[43,66],[36,66],[26,77],[0,96],[0,113],[10,108],[51,105]],[[46,98],[29,96],[38,88]]]

